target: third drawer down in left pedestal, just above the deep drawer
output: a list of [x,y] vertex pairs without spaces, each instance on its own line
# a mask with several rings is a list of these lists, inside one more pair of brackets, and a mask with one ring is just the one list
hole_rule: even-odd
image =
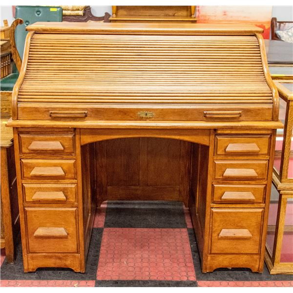
[[66,203],[76,201],[76,184],[23,184],[22,187],[27,202]]

